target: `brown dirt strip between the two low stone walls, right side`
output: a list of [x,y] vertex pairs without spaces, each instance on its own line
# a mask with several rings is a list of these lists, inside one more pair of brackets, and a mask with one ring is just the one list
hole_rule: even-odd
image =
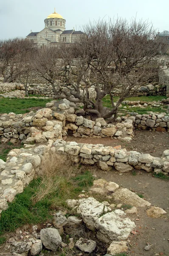
[[149,153],[154,157],[160,157],[165,149],[169,149],[169,133],[156,131],[134,131],[135,137],[131,143],[118,139],[106,138],[74,138],[68,137],[66,141],[76,141],[77,143],[104,144],[107,146],[121,145],[128,151]]

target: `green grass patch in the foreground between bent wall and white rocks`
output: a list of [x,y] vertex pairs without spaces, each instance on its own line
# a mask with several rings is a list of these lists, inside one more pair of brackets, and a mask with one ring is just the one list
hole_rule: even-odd
[[76,198],[79,190],[82,191],[91,186],[93,177],[89,171],[85,171],[70,180],[67,177],[55,176],[54,182],[56,188],[36,202],[34,196],[39,193],[43,184],[42,178],[34,179],[23,193],[18,194],[14,201],[8,204],[8,209],[1,213],[0,244],[5,241],[6,232],[14,231],[24,224],[38,224],[50,220],[51,211],[60,207],[65,208],[65,200]]

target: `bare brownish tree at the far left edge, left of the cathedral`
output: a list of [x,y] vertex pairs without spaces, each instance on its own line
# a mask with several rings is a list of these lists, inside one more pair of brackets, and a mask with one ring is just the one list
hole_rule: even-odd
[[0,72],[3,82],[12,82],[20,73],[20,56],[23,52],[31,52],[33,44],[20,38],[0,41]]

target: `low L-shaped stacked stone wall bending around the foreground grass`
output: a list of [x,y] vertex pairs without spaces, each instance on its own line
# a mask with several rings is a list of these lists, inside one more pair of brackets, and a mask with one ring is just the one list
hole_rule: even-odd
[[37,176],[43,160],[56,153],[69,154],[74,163],[96,164],[104,171],[115,169],[124,173],[135,169],[169,174],[169,150],[165,150],[160,158],[102,144],[78,144],[64,140],[48,140],[39,146],[25,144],[24,148],[12,149],[6,162],[0,160],[0,212],[6,210],[8,202],[12,202],[15,195],[22,193]]

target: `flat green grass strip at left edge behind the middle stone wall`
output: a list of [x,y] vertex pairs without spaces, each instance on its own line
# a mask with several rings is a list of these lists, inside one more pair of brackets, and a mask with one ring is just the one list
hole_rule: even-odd
[[0,99],[0,113],[14,112],[16,114],[24,114],[30,112],[28,108],[43,107],[47,102],[51,102],[52,99]]

